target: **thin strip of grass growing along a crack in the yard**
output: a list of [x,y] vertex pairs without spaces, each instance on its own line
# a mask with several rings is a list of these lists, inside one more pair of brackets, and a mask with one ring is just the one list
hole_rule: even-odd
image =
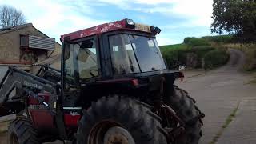
[[218,133],[214,136],[214,138],[210,141],[210,144],[214,144],[218,141],[218,138],[220,138],[224,132],[224,130],[226,129],[227,126],[230,125],[230,122],[233,121],[233,119],[236,116],[236,113],[238,111],[238,107],[240,105],[240,102],[238,102],[238,105],[234,108],[234,110],[232,110],[231,114],[226,118],[226,121],[224,122],[224,124],[222,125],[221,129],[218,130]]

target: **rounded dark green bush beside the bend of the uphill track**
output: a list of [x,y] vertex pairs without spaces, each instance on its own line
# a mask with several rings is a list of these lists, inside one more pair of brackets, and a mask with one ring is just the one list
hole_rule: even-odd
[[206,53],[204,56],[205,70],[213,69],[214,67],[222,66],[226,64],[230,57],[230,54],[225,49],[215,49]]

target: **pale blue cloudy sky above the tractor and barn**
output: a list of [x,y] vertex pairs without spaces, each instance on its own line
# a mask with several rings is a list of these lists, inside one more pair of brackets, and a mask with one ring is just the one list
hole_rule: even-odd
[[[61,34],[123,18],[158,26],[159,45],[210,35],[212,0],[0,0],[58,41]],[[59,42],[59,41],[58,41]]]

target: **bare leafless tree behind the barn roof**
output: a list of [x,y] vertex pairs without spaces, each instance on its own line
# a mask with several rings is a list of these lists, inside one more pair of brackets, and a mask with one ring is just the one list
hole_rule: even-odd
[[0,26],[2,28],[18,26],[24,23],[25,16],[22,14],[22,11],[12,6],[4,5],[0,7]]

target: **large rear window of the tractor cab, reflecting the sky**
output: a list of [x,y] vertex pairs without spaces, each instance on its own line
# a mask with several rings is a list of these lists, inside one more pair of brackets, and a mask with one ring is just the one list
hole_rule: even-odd
[[166,69],[155,38],[132,34],[109,37],[115,74],[130,74]]

